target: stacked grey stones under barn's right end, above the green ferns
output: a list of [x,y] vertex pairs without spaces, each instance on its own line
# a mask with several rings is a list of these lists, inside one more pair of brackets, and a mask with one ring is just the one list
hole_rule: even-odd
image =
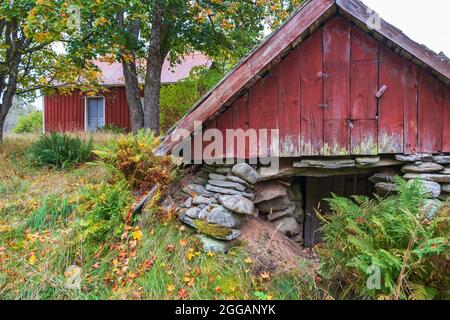
[[[446,201],[450,197],[450,156],[432,154],[397,155],[398,161],[406,164],[401,168],[403,178],[418,179],[430,198]],[[370,180],[380,194],[397,191],[393,173],[377,173]]]

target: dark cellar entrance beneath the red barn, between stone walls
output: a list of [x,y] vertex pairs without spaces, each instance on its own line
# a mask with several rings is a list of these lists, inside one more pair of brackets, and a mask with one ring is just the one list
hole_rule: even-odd
[[334,193],[338,196],[350,197],[352,195],[371,196],[375,190],[368,180],[368,174],[351,174],[331,177],[298,177],[304,196],[304,244],[312,247],[322,241],[321,223],[316,211],[321,215],[330,214],[328,203],[324,200]]

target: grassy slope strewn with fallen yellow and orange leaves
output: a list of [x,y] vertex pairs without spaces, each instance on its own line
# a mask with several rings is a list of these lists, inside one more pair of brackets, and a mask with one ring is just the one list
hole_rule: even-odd
[[[96,136],[102,143],[109,136]],[[316,298],[300,274],[253,275],[243,247],[201,253],[193,232],[146,212],[139,226],[101,243],[73,239],[87,186],[107,179],[98,167],[50,171],[25,160],[31,136],[0,150],[0,299],[298,299]],[[69,289],[69,266],[81,268]],[[313,290],[310,290],[311,287]],[[311,293],[312,292],[312,293]]]

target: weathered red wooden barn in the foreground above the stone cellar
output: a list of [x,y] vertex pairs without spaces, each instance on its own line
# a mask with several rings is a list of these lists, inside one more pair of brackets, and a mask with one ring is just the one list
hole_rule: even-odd
[[[198,144],[194,133],[200,128],[221,135]],[[256,131],[256,142],[248,143],[248,130]],[[261,143],[268,132],[268,143]],[[187,137],[194,142],[180,144]],[[242,138],[246,143],[236,147]],[[212,144],[214,151],[205,155]],[[283,185],[300,186],[297,200],[306,214],[295,218],[311,245],[317,241],[314,208],[326,210],[326,203],[317,204],[331,192],[394,190],[381,168],[427,181],[434,198],[450,195],[450,61],[358,0],[310,0],[188,112],[159,152],[181,149],[186,157],[190,145],[191,160],[259,159],[253,164],[260,174],[262,158],[279,160],[276,172],[260,175],[259,181],[283,179]],[[411,164],[402,167],[407,161]],[[236,193],[215,187],[227,184],[212,183],[208,191]],[[292,219],[289,223],[295,226]]]

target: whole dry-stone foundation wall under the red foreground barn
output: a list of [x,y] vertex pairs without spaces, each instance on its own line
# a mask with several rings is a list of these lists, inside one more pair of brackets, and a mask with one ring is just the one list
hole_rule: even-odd
[[[367,159],[371,160],[369,165],[380,161],[379,157]],[[322,167],[325,163],[325,169],[339,171],[346,160],[316,160],[312,164],[311,161],[303,160],[300,164],[317,168],[317,163]],[[355,163],[352,160],[353,166]],[[400,175],[407,180],[419,179],[433,207],[439,205],[438,199],[445,201],[450,196],[450,156],[399,155],[394,166],[373,168],[373,172],[377,173],[369,181],[380,195],[395,193],[395,177]],[[183,188],[187,199],[178,204],[180,219],[199,232],[205,251],[226,251],[227,243],[241,235],[239,229],[250,216],[262,217],[280,233],[303,243],[304,190],[300,190],[300,183],[293,181],[292,177],[285,176],[260,179],[256,166],[245,163],[202,165]]]

